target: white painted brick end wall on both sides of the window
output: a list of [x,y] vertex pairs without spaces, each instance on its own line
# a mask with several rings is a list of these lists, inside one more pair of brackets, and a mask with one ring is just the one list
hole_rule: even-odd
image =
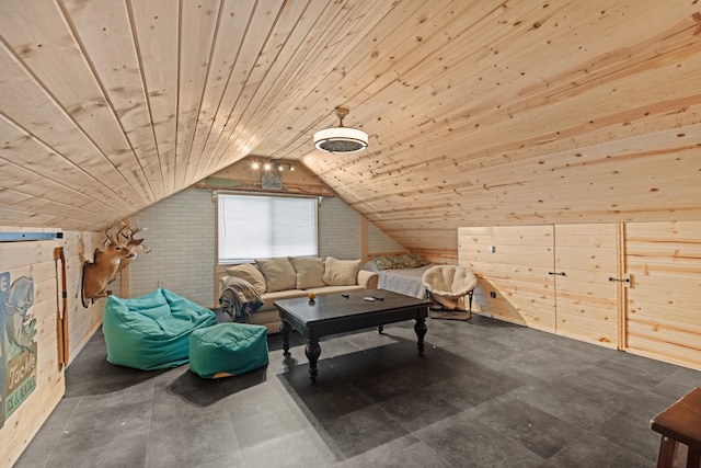
[[[211,192],[187,189],[131,217],[148,228],[137,237],[143,237],[152,249],[129,266],[131,297],[164,287],[205,307],[212,306],[216,207]],[[369,226],[370,251],[403,250]],[[319,256],[354,260],[360,258],[360,215],[341,198],[324,198],[319,207]]]

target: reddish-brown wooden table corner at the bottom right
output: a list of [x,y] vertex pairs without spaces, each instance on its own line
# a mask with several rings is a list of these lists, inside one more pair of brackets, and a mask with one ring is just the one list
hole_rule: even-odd
[[687,468],[701,467],[701,388],[694,388],[657,414],[650,425],[662,434],[657,468],[673,467],[679,444],[689,447]]

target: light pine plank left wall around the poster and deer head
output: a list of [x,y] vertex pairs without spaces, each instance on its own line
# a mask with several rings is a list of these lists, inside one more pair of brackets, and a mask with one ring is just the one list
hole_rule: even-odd
[[[28,230],[0,227],[0,231]],[[57,309],[61,304],[54,249],[64,247],[66,256],[69,358],[72,361],[102,323],[104,299],[89,308],[83,308],[80,301],[84,254],[89,252],[92,259],[92,252],[101,242],[101,236],[94,232],[64,232],[62,239],[47,241],[0,242],[0,273],[10,272],[12,281],[28,276],[34,282],[34,304],[30,312],[37,320],[36,388],[0,429],[0,466],[10,467],[16,461],[66,391],[65,369],[59,367],[58,357]],[[58,272],[60,274],[60,269]]]

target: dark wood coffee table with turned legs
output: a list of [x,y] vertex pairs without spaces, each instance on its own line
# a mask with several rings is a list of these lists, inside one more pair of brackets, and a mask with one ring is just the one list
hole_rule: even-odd
[[[372,303],[364,297],[382,298]],[[418,338],[418,354],[424,354],[426,317],[430,301],[416,299],[384,289],[363,289],[346,294],[324,294],[313,301],[307,297],[283,299],[274,303],[283,322],[283,349],[289,355],[289,333],[292,329],[307,339],[304,353],[309,359],[309,377],[317,379],[317,362],[321,355],[319,339],[334,333],[378,327],[380,333],[384,323],[416,320],[414,331]]]

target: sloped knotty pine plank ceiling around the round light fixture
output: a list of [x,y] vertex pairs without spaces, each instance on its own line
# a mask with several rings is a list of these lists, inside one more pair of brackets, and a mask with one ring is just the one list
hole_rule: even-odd
[[[100,230],[250,156],[406,248],[699,219],[698,0],[2,0],[0,225]],[[345,125],[368,150],[325,155]]]

